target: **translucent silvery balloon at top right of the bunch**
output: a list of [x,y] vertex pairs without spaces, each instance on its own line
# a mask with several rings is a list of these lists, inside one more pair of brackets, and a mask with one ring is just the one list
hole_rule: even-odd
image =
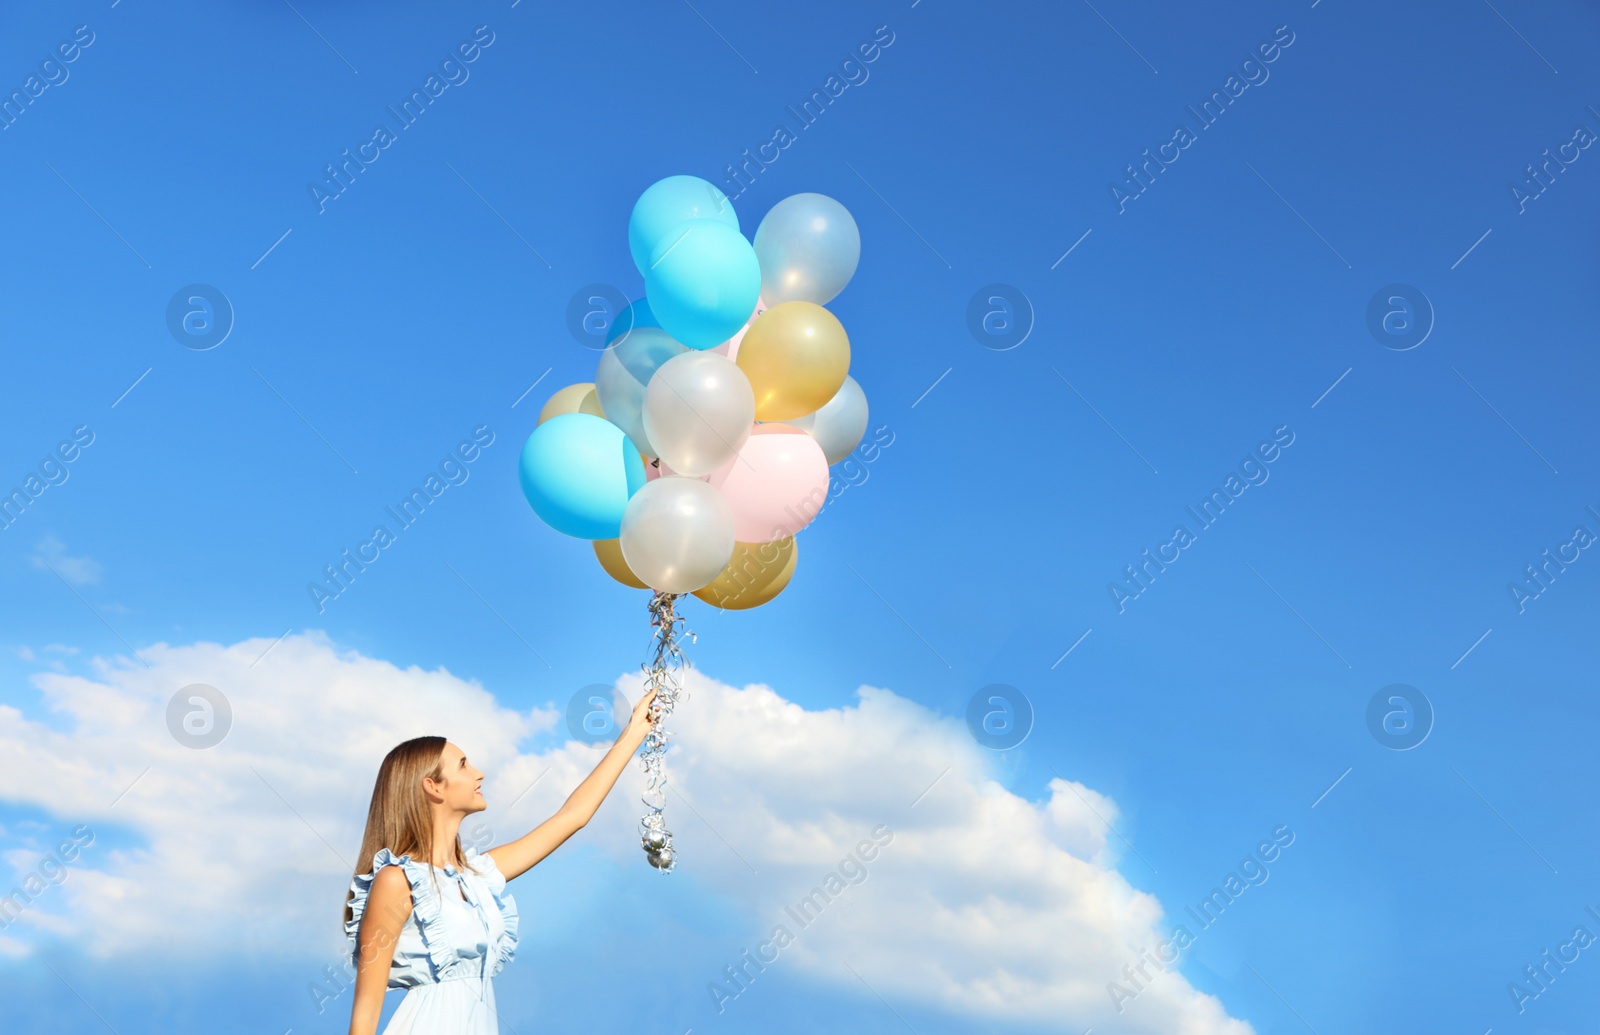
[[762,298],[768,307],[779,302],[822,306],[856,274],[861,230],[850,211],[826,194],[795,194],[773,205],[755,229],[755,258],[762,264]]

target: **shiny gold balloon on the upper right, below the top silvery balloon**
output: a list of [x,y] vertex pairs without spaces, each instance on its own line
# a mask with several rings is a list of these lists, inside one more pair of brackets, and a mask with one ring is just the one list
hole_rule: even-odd
[[755,390],[755,419],[792,421],[838,394],[850,373],[850,338],[816,302],[781,302],[750,323],[736,362]]

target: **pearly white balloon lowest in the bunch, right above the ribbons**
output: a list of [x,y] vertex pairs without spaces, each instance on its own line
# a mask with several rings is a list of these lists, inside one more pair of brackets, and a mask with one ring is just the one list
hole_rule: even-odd
[[733,557],[733,507],[709,482],[661,475],[622,510],[622,560],[662,593],[691,593]]

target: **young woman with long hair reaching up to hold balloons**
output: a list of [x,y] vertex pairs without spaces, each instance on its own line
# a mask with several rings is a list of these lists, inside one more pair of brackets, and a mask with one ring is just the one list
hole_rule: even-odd
[[480,854],[461,848],[461,821],[488,805],[483,773],[443,737],[400,744],[378,769],[362,865],[344,933],[354,941],[350,1035],[378,1035],[386,989],[406,989],[384,1035],[496,1035],[491,977],[517,949],[517,902],[506,881],[528,872],[594,817],[650,733],[654,691],[634,707],[594,773],[530,833]]

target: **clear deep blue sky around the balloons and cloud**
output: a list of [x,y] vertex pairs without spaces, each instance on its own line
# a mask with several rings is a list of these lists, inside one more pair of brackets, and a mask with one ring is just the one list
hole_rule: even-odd
[[[122,0],[3,18],[0,86],[61,82],[0,131],[0,483],[74,429],[93,442],[0,533],[0,723],[70,739],[43,673],[285,632],[448,670],[520,713],[632,670],[645,593],[538,521],[515,456],[542,398],[592,379],[573,293],[643,293],[638,192],[725,184],[789,125],[734,202],[741,227],[805,190],[854,214],[861,266],[830,309],[893,445],[800,536],[774,603],[686,605],[696,665],[810,712],[867,685],[954,723],[979,688],[1018,688],[1032,731],[984,765],[1024,801],[1056,777],[1114,800],[1115,872],[1160,901],[1162,929],[1288,825],[1270,880],[1182,963],[1256,1032],[1587,1030],[1590,952],[1523,1013],[1507,984],[1574,926],[1600,934],[1582,805],[1600,560],[1568,547],[1522,606],[1509,585],[1576,526],[1600,534],[1600,149],[1570,144],[1600,134],[1594,5]],[[42,72],[80,26],[93,42]],[[787,107],[880,26],[867,75],[797,128]],[[387,107],[475,38],[398,128]],[[1202,126],[1190,106],[1229,77]],[[394,142],[318,202],[323,168],[379,125]],[[1179,126],[1192,142],[1118,202],[1125,166]],[[1546,150],[1571,162],[1520,200]],[[234,314],[206,350],[166,322],[197,283]],[[1027,299],[1021,344],[970,328],[987,285]],[[1390,285],[1432,310],[1414,347],[1368,326]],[[478,427],[493,443],[470,477],[318,609],[307,584]],[[1267,478],[1200,529],[1186,507],[1275,429],[1293,442]],[[1118,609],[1109,584],[1179,523],[1194,542]],[[1397,683],[1434,712],[1410,750],[1366,721]],[[448,710],[427,718],[454,736]],[[128,737],[146,734],[166,737]],[[293,739],[274,750],[318,766]],[[54,800],[70,761],[0,792],[18,875],[82,822],[107,872],[152,838]],[[1038,1027],[798,966],[718,1016],[706,973],[765,920],[691,873],[645,883],[586,837],[526,891],[549,923],[498,981],[507,1024]],[[323,933],[256,944],[243,926],[237,952],[194,958],[40,928],[0,989],[21,1030],[94,1013],[123,1033],[342,1030],[306,1011]]]

